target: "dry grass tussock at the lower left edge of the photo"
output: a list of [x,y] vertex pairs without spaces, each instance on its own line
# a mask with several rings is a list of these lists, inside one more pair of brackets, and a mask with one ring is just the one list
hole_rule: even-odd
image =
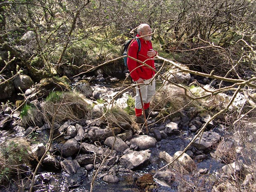
[[29,164],[29,146],[24,139],[8,140],[0,145],[0,183],[10,181],[17,173],[26,172],[22,165]]

